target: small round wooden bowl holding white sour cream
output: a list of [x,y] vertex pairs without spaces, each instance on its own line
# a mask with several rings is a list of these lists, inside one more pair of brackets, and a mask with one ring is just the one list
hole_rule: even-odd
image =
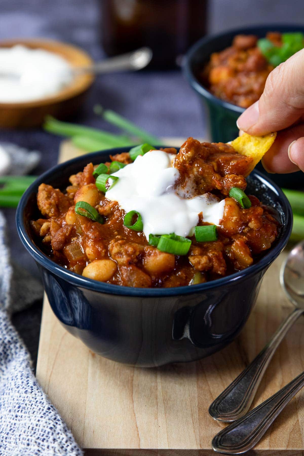
[[[32,49],[40,48],[64,57],[72,67],[92,65],[93,60],[82,49],[60,41],[42,39],[1,41],[0,47],[22,44]],[[29,128],[41,125],[47,114],[64,119],[82,105],[94,77],[92,74],[75,76],[72,83],[52,97],[22,103],[0,103],[0,127]]]

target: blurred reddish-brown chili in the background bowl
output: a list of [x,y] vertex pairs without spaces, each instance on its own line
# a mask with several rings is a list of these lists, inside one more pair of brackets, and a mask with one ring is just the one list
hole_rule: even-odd
[[[281,34],[269,32],[266,38],[281,46]],[[263,93],[268,74],[273,70],[257,46],[258,37],[237,35],[232,46],[211,54],[199,74],[201,83],[213,95],[241,108],[248,108]]]

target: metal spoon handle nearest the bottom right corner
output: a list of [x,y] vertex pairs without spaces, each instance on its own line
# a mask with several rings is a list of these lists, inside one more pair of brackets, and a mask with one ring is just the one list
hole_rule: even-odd
[[212,440],[213,450],[228,455],[250,450],[303,386],[304,372],[247,415],[216,434]]

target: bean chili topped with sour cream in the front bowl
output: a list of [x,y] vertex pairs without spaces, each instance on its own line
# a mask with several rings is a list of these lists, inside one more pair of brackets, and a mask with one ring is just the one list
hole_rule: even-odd
[[[231,145],[200,143],[188,138],[177,155],[170,148],[146,152],[132,164],[129,153],[111,159],[118,169],[114,176],[120,183],[104,174],[98,175],[102,165],[89,163],[83,171],[70,176],[71,185],[64,192],[46,184],[39,186],[37,205],[41,218],[31,221],[31,227],[41,239],[42,249],[58,264],[77,274],[131,287],[203,283],[251,265],[278,235],[278,222],[271,209],[263,206],[257,197],[244,193],[244,176],[252,158],[237,154]],[[166,160],[169,165],[164,165]],[[149,163],[152,175],[153,166],[159,166],[160,161],[163,163],[160,172],[169,185],[166,183],[165,190],[160,191],[164,179],[158,183],[155,173],[155,186],[149,187],[154,196],[149,199],[148,195],[145,200],[141,196],[150,182],[149,175],[143,175],[139,166]],[[104,169],[108,170],[110,163],[105,165]],[[139,183],[133,182],[133,193],[128,190],[132,187],[132,181],[128,181],[131,171],[142,177],[141,182],[140,179]],[[100,181],[105,192],[100,190]],[[124,194],[117,202],[113,199],[120,195],[119,189]],[[230,197],[229,193],[236,197]],[[137,209],[140,206],[133,207],[126,223],[123,207],[130,201],[131,207],[143,201],[145,205],[141,213]],[[168,201],[170,204],[164,209],[162,205]],[[181,204],[180,213],[173,212],[177,207],[174,201]],[[159,204],[158,216],[153,218],[155,202]],[[77,210],[79,204],[82,207]],[[206,213],[205,209],[196,213],[201,204],[205,205]],[[167,220],[164,221],[162,213],[167,213]],[[153,232],[165,226],[170,227],[168,230],[175,229],[175,234]],[[165,247],[162,249],[161,245]],[[175,249],[182,249],[182,254],[172,253]]]

